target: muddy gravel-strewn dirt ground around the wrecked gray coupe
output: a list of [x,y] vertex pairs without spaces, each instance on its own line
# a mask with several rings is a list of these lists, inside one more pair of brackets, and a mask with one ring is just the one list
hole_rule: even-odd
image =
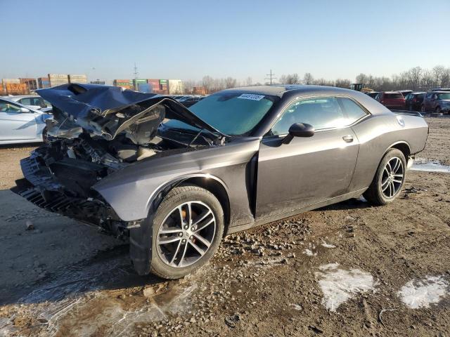
[[[427,121],[419,156],[450,165],[450,119]],[[136,276],[126,243],[10,192],[30,150],[0,148],[0,336],[450,336],[449,173],[410,171],[388,206],[229,235],[166,282]]]

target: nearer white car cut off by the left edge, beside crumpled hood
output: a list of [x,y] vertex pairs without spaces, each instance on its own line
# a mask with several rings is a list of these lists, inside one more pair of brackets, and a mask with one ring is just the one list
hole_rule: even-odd
[[51,114],[0,98],[0,145],[46,140],[45,120]]

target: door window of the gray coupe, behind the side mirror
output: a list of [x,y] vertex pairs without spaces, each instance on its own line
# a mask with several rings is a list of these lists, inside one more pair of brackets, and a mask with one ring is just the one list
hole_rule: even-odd
[[270,134],[285,135],[294,123],[311,124],[316,130],[349,124],[338,99],[328,96],[296,100],[276,121]]

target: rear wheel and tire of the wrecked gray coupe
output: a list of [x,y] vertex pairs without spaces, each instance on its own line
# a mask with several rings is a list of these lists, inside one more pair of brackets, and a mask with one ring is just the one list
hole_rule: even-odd
[[[398,163],[401,166],[395,171],[395,167],[392,166]],[[389,174],[390,169],[393,171],[392,175]],[[397,149],[390,149],[386,152],[383,159],[381,159],[371,185],[363,194],[364,198],[375,206],[389,204],[403,190],[405,178],[406,159],[403,152]]]

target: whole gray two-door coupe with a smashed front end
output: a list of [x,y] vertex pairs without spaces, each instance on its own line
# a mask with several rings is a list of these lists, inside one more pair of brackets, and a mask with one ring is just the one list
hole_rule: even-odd
[[109,86],[39,94],[50,142],[21,161],[15,191],[129,238],[135,270],[169,279],[225,234],[361,194],[390,203],[428,136],[418,113],[326,86],[233,88],[191,110]]

